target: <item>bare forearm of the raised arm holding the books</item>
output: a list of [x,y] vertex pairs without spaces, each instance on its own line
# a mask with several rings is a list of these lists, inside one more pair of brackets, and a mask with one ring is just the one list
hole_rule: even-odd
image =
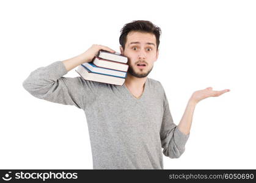
[[84,52],[76,57],[64,60],[62,62],[64,63],[66,70],[70,71],[76,66],[81,65],[82,63],[90,62],[90,59],[86,56],[86,53]]

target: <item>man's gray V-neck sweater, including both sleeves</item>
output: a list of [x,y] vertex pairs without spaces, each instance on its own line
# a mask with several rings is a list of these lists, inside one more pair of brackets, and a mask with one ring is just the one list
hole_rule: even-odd
[[65,74],[57,61],[32,71],[23,87],[36,98],[84,110],[93,169],[163,169],[163,154],[178,158],[185,151],[189,134],[174,124],[159,81],[147,77],[144,93],[135,98],[125,84]]

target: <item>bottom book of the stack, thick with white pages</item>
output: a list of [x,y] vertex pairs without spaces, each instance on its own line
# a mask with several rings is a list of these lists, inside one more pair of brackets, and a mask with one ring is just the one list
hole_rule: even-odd
[[84,79],[89,81],[97,81],[97,82],[103,82],[103,83],[114,84],[114,85],[123,85],[123,83],[125,82],[125,78],[91,73],[88,70],[86,70],[86,68],[82,65],[78,66],[78,68],[76,69],[76,72],[80,76],[82,76]]

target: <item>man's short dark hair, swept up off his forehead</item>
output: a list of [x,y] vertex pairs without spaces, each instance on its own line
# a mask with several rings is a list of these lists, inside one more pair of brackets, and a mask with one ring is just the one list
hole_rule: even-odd
[[147,20],[134,20],[130,23],[127,23],[120,30],[119,43],[125,49],[126,37],[130,31],[138,31],[138,32],[147,32],[151,34],[155,34],[156,37],[156,50],[158,50],[158,46],[160,44],[160,35],[161,29],[160,27],[153,24],[151,21]]

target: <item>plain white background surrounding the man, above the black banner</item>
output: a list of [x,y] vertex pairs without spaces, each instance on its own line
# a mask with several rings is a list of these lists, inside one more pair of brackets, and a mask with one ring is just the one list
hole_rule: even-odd
[[255,1],[1,1],[0,168],[92,169],[84,112],[37,99],[22,82],[92,44],[119,52],[120,29],[133,20],[162,29],[148,77],[163,84],[175,124],[194,91],[231,90],[197,104],[186,151],[164,156],[164,169],[256,168],[255,9]]

